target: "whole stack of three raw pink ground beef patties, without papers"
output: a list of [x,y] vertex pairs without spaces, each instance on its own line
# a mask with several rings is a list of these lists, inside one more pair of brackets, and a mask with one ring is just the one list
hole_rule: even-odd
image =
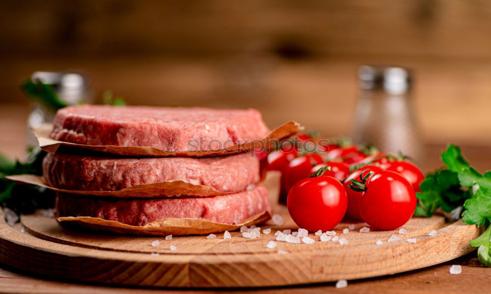
[[[51,137],[83,145],[155,147],[182,154],[231,147],[268,132],[261,114],[253,109],[82,105],[57,112]],[[180,180],[227,193],[144,199],[58,193],[57,216],[91,216],[134,226],[168,217],[237,224],[270,210],[268,192],[258,183],[259,160],[251,153],[143,158],[50,153],[43,161],[43,176],[51,186],[67,190],[117,191]]]

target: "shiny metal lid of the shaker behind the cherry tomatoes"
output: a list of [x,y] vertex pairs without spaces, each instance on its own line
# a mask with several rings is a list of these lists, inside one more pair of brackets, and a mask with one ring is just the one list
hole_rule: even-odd
[[412,70],[394,65],[361,65],[358,68],[360,88],[382,89],[389,94],[404,94],[411,88]]

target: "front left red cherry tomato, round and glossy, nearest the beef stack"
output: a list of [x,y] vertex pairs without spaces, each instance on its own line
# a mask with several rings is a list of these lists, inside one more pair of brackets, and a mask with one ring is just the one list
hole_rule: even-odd
[[332,230],[346,213],[343,185],[332,176],[304,178],[288,193],[287,206],[295,223],[309,232]]

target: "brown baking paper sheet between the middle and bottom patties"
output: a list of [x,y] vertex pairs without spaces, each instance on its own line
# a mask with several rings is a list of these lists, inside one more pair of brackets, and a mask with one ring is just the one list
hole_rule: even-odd
[[[33,184],[41,187],[45,187],[56,192],[90,195],[90,196],[105,196],[105,197],[132,197],[132,198],[163,198],[163,197],[180,197],[180,196],[193,196],[193,197],[208,197],[232,194],[218,192],[217,190],[204,186],[194,185],[181,180],[165,181],[154,184],[144,184],[128,187],[117,191],[81,191],[81,190],[65,190],[52,187],[45,183],[42,176],[36,175],[15,175],[5,176],[5,178],[15,181],[17,183]],[[238,192],[235,192],[238,193]]]

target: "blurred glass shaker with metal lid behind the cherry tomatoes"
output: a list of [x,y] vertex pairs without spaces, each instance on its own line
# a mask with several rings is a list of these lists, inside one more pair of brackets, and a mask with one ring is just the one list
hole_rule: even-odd
[[423,142],[410,96],[412,73],[402,66],[362,65],[360,96],[352,137],[356,144],[373,143],[382,151],[399,151],[415,163],[423,161]]

